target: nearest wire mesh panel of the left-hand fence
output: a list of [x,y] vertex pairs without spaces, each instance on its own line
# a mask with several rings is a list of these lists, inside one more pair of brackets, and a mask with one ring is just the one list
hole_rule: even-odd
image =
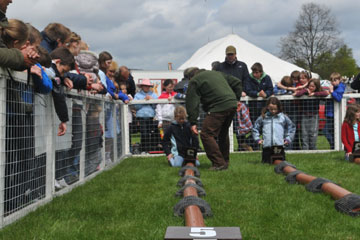
[[46,154],[35,154],[34,93],[7,80],[4,216],[45,196]]

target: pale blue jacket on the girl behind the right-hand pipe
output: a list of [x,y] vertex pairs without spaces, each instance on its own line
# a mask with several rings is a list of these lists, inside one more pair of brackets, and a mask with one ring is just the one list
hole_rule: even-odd
[[284,140],[292,142],[295,136],[296,127],[284,113],[272,115],[266,112],[265,117],[258,117],[252,130],[255,142],[264,140],[263,147],[283,146]]

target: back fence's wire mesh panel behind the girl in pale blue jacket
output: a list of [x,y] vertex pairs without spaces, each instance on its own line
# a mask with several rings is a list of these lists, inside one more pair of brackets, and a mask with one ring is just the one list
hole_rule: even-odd
[[[294,140],[287,150],[334,149],[334,100],[319,97],[276,96],[283,112],[296,126]],[[252,139],[251,127],[261,116],[267,99],[245,98],[242,110],[233,121],[234,149],[237,151],[260,150]],[[250,115],[250,121],[248,114]],[[236,136],[236,138],[235,138]]]

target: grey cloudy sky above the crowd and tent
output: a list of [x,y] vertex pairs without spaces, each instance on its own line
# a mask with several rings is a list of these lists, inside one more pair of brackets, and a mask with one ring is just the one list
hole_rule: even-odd
[[[42,30],[60,22],[91,50],[109,51],[120,65],[178,68],[201,46],[235,33],[278,55],[305,0],[13,0],[8,18]],[[341,38],[360,65],[360,1],[315,0],[330,7]],[[261,60],[260,60],[261,61]]]

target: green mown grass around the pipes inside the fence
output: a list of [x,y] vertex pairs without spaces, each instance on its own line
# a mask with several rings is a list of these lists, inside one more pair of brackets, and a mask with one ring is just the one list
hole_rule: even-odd
[[[343,152],[288,154],[299,170],[360,194],[360,166]],[[233,154],[227,171],[211,172],[200,156],[201,180],[214,216],[209,227],[240,227],[243,239],[360,239],[360,218],[337,212],[325,194],[290,185],[260,153]],[[164,157],[128,158],[71,193],[0,231],[0,239],[163,239],[173,215],[177,168]]]

